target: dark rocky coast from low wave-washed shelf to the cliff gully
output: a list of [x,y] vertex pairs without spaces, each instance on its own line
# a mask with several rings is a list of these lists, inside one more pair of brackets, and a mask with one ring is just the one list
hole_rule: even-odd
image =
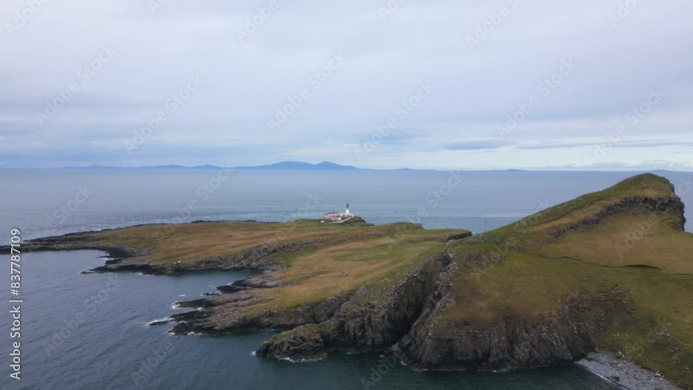
[[[267,349],[261,348],[260,355],[315,357],[312,348],[317,345],[321,346],[317,355],[328,350],[378,351],[392,346],[407,333],[428,301],[439,269],[446,264],[452,263],[445,256],[430,258],[416,272],[392,285],[371,283],[356,292],[283,310],[263,310],[262,305],[267,301],[253,290],[285,282],[272,278],[271,274],[256,276],[234,283],[230,294],[182,303],[184,307],[205,310],[194,320],[175,318],[184,323],[173,328],[173,333],[192,331],[202,335],[224,335],[247,330],[295,328],[274,339],[276,343],[264,344]],[[306,344],[307,337],[313,338],[315,334],[320,337]],[[292,348],[292,345],[297,347]],[[279,353],[281,350],[288,353]]]

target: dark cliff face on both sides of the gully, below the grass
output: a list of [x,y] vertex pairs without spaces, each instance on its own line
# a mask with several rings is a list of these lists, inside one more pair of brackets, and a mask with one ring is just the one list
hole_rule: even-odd
[[455,310],[450,290],[459,274],[484,272],[501,261],[493,251],[442,252],[396,285],[361,287],[328,321],[281,333],[257,353],[314,359],[330,351],[394,347],[407,364],[421,369],[527,369],[572,362],[593,351],[595,338],[623,306],[615,288],[598,300],[574,294],[549,316],[528,319],[509,312],[499,321],[465,317],[442,323],[446,310]]

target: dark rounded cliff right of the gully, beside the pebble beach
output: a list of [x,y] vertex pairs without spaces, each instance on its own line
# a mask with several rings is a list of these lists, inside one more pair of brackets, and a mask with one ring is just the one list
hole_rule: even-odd
[[433,304],[398,343],[403,360],[437,370],[507,370],[573,362],[594,351],[595,338],[622,308],[622,292],[608,292],[595,301],[575,296],[554,317],[520,318],[510,314],[499,321],[476,319],[446,322],[441,312],[446,299]]

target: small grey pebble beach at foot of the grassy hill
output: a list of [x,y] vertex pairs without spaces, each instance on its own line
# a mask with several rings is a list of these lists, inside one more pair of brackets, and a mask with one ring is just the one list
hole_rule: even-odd
[[683,390],[660,373],[643,369],[633,362],[608,353],[590,352],[575,364],[620,389]]

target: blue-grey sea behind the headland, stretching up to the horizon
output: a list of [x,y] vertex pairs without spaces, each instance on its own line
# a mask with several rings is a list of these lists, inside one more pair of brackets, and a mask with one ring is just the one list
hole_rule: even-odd
[[[345,204],[367,221],[480,233],[602,190],[631,172],[0,170],[0,242],[183,220],[286,222]],[[688,208],[692,173],[663,173]],[[219,179],[222,177],[222,179]],[[450,184],[455,185],[451,188]],[[82,201],[82,202],[80,202]],[[316,205],[317,204],[317,205]],[[307,206],[306,206],[307,205]]]

